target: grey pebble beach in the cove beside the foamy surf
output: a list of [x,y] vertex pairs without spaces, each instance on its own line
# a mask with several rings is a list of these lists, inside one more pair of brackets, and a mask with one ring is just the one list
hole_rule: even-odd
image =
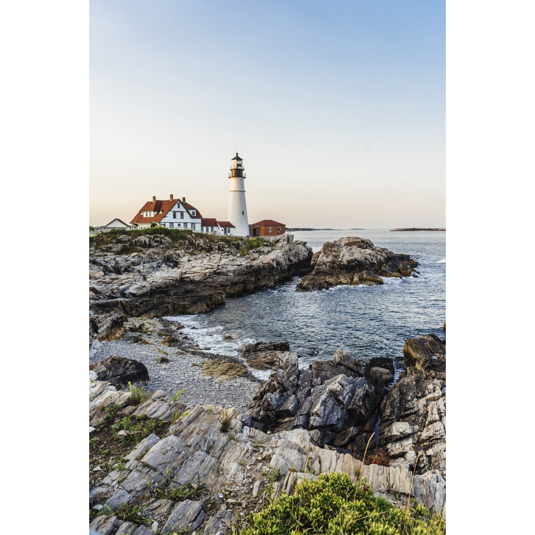
[[[150,382],[144,388],[149,392],[159,389],[173,396],[184,390],[181,401],[188,405],[209,403],[224,408],[234,407],[239,411],[249,407],[261,384],[254,376],[248,373],[247,376],[225,381],[202,376],[202,364],[207,359],[241,363],[242,360],[199,351],[193,346],[193,342],[187,338],[182,339],[180,331],[175,331],[162,319],[131,318],[128,323],[134,327],[141,324],[148,327],[149,332],[127,332],[120,340],[96,342],[89,355],[89,364],[99,362],[110,355],[132,358],[147,367]],[[179,338],[179,343],[163,345],[165,337],[158,333],[164,331]],[[144,342],[134,341],[135,337],[141,337]],[[163,355],[169,358],[170,362],[156,361],[156,357]]]

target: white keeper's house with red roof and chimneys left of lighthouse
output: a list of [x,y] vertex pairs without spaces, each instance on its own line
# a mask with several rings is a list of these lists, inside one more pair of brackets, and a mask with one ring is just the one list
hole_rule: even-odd
[[152,201],[143,204],[141,210],[137,212],[130,223],[132,229],[185,228],[196,232],[219,235],[232,235],[235,228],[228,221],[203,218],[200,211],[186,202],[186,197],[182,197],[182,200],[175,199],[172,194],[169,196],[169,200],[165,201],[159,201],[156,197],[152,197]]

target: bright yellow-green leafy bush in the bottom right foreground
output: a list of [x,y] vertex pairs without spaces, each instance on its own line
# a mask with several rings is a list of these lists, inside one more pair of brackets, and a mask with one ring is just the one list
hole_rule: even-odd
[[446,533],[445,522],[417,505],[398,509],[375,498],[365,479],[354,484],[345,473],[297,485],[260,513],[250,513],[240,535],[431,535]]

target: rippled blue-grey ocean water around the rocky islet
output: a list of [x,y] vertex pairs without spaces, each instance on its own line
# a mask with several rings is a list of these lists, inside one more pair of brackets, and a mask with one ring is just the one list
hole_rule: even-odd
[[[330,360],[337,349],[369,361],[400,356],[407,338],[425,334],[445,338],[446,232],[366,229],[293,234],[314,252],[343,236],[370,239],[377,247],[409,254],[419,262],[420,276],[319,292],[296,292],[299,278],[295,277],[276,288],[227,298],[224,306],[208,314],[167,319],[185,325],[182,332],[211,353],[238,356],[248,343],[287,341],[290,350],[300,355],[300,368],[314,360]],[[255,375],[265,379],[269,372]]]

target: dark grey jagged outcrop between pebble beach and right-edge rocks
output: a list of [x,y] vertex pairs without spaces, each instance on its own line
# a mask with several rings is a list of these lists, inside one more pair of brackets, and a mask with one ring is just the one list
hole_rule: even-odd
[[308,370],[300,370],[298,362],[295,353],[276,353],[276,369],[242,422],[271,432],[306,429],[313,444],[363,452],[377,423],[383,375],[342,350],[334,360],[315,361]]

